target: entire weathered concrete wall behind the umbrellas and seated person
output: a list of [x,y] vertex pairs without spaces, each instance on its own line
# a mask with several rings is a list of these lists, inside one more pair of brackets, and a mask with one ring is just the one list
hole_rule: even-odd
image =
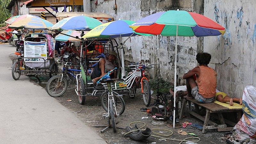
[[[178,85],[184,85],[183,74],[197,66],[195,56],[198,52],[211,53],[209,66],[218,73],[217,88],[231,97],[240,98],[246,85],[255,85],[256,19],[252,12],[256,3],[253,0],[116,0],[116,11],[111,9],[115,0],[98,0],[97,5],[95,2],[91,1],[92,12],[108,13],[115,20],[137,21],[156,12],[177,8],[215,20],[227,28],[224,36],[178,37]],[[159,63],[159,68],[150,71],[151,76],[161,76],[174,83],[175,42],[175,37],[131,37],[125,43],[126,64]]]

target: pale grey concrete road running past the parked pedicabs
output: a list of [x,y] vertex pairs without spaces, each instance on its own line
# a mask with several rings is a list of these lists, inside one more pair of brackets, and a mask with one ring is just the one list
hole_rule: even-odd
[[0,44],[0,143],[106,143],[29,77],[13,80],[14,51]]

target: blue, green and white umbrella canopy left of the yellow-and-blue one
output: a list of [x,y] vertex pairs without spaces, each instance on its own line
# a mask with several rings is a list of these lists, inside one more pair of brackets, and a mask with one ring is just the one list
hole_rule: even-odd
[[49,30],[84,30],[91,29],[103,24],[101,21],[87,16],[72,16],[57,22]]

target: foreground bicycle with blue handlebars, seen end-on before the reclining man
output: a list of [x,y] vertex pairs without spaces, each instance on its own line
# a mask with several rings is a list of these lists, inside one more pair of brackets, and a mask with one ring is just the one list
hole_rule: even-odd
[[[107,90],[106,92],[108,93],[108,102],[107,102],[107,110],[106,110],[106,103],[104,103],[104,101],[102,100],[102,98],[104,97],[104,94],[102,94],[102,107],[104,110],[106,110],[108,113],[105,114],[105,117],[107,118],[108,117],[108,126],[103,129],[101,132],[105,131],[107,128],[111,127],[111,124],[110,124],[110,120],[112,122],[112,128],[113,128],[113,132],[116,132],[116,122],[115,122],[115,118],[117,116],[120,116],[124,110],[125,110],[125,103],[124,103],[124,100],[122,98],[123,95],[120,95],[118,94],[117,92],[114,92],[114,88],[117,87],[116,83],[115,82],[115,85],[113,85],[114,81],[115,80],[118,80],[118,79],[110,79],[110,74],[113,73],[114,70],[116,70],[117,68],[114,68],[112,69],[111,71],[109,71],[105,76],[103,76],[98,82],[97,84],[99,84],[102,80],[104,80],[104,82],[107,84]],[[114,88],[113,88],[114,87]],[[116,98],[119,98],[122,102],[122,108],[121,108],[121,112],[119,112],[117,110],[117,107],[116,107]]]

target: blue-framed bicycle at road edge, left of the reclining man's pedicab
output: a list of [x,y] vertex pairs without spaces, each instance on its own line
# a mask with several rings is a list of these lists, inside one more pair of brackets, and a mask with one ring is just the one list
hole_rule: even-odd
[[69,82],[75,82],[76,75],[72,72],[81,72],[81,70],[70,69],[69,67],[78,67],[69,62],[66,62],[62,65],[62,72],[60,75],[56,75],[51,77],[46,84],[46,91],[51,97],[59,97],[64,94],[68,88],[68,80]]

